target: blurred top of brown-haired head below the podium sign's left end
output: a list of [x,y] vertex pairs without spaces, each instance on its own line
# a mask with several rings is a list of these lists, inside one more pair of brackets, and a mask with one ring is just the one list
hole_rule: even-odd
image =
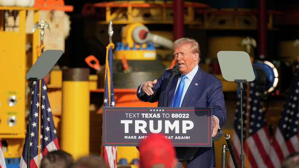
[[72,168],[107,168],[106,164],[98,157],[85,156],[78,159]]

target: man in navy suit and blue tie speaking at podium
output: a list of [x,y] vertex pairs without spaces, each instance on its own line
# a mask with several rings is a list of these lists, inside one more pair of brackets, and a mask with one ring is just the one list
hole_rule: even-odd
[[[200,49],[196,40],[178,39],[173,43],[173,51],[179,73],[166,90],[165,106],[212,107],[212,137],[215,137],[226,121],[222,83],[199,67]],[[146,102],[159,101],[158,107],[163,107],[163,91],[170,74],[171,69],[166,70],[158,80],[147,81],[138,86],[137,97]],[[213,166],[216,166],[214,143],[213,147],[200,148],[193,159],[188,161],[188,168]]]

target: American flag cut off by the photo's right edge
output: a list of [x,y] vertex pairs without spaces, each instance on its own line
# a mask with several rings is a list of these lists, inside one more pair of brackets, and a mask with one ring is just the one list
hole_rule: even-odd
[[299,65],[291,82],[287,100],[275,132],[275,137],[269,152],[269,162],[274,167],[281,167],[281,161],[293,152],[298,152],[298,90]]

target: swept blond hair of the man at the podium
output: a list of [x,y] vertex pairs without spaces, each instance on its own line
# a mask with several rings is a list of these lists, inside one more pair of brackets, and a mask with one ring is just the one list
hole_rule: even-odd
[[187,38],[187,37],[180,38],[180,39],[175,40],[173,42],[172,49],[175,50],[178,46],[183,45],[183,44],[190,44],[191,52],[192,53],[198,53],[198,63],[199,63],[200,48],[199,48],[199,44],[197,43],[197,41],[194,40],[194,39]]

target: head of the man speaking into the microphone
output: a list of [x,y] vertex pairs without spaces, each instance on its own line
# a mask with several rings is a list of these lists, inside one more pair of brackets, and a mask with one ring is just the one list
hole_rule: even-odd
[[196,40],[180,38],[173,42],[173,56],[179,72],[186,75],[199,63],[200,49]]

